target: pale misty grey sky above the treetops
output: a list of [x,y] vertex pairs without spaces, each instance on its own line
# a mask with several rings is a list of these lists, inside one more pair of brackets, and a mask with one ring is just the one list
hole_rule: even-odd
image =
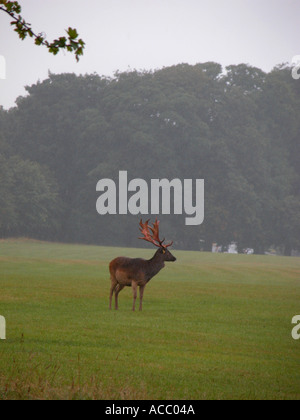
[[80,63],[21,41],[0,13],[0,105],[9,108],[52,73],[113,75],[179,63],[248,63],[270,71],[300,54],[299,0],[20,0],[22,16],[47,39],[76,27],[86,42]]

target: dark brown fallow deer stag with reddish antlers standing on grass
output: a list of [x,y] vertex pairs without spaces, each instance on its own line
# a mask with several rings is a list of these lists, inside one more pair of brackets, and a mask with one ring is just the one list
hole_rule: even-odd
[[[143,295],[146,284],[156,276],[156,274],[165,266],[165,261],[176,261],[176,258],[171,254],[168,248],[173,244],[164,244],[159,238],[159,221],[156,219],[155,223],[149,226],[149,220],[145,223],[140,221],[140,231],[144,235],[142,238],[145,241],[151,242],[158,247],[151,260],[144,260],[142,258],[126,258],[119,257],[113,260],[109,265],[111,288],[109,296],[109,309],[112,307],[112,298],[115,293],[115,309],[118,309],[118,296],[125,286],[131,286],[133,291],[133,307],[135,310],[135,302],[137,298],[137,288],[140,288],[140,311],[143,307]],[[150,232],[151,231],[151,232]]]

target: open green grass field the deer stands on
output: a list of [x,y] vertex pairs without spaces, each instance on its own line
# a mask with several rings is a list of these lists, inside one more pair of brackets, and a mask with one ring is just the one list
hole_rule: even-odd
[[151,249],[0,241],[0,399],[300,399],[300,259],[173,251],[108,310],[108,263]]

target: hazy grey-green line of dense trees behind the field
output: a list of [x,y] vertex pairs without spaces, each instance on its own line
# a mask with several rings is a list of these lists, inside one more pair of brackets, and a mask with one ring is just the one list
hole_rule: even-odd
[[205,221],[161,216],[178,249],[300,248],[300,82],[287,66],[181,64],[49,74],[0,110],[0,236],[141,246],[139,217],[100,216],[96,184],[204,179]]

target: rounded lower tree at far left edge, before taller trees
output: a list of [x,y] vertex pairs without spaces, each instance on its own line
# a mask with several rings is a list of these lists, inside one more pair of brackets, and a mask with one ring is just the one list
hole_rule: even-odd
[[54,238],[59,200],[49,171],[36,162],[0,154],[0,179],[1,235]]

